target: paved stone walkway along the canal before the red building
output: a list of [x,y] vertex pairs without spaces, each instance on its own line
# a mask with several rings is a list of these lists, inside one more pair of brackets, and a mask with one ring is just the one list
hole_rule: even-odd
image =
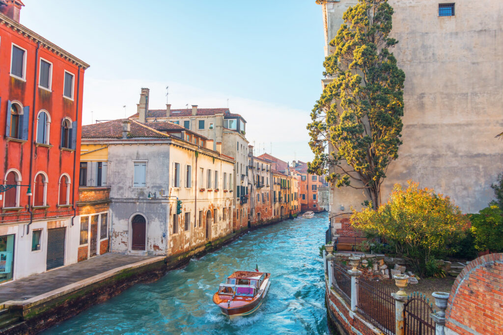
[[[6,301],[24,301],[66,286],[85,285],[96,276],[106,278],[120,269],[141,266],[156,256],[129,256],[107,253],[91,259],[35,274],[0,285],[0,305]],[[70,288],[68,287],[68,288]]]

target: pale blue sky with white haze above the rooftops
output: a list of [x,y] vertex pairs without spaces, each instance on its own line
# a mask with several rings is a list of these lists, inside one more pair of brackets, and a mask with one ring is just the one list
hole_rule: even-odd
[[[82,124],[150,109],[229,107],[255,154],[312,159],[306,125],[321,93],[323,21],[314,0],[23,0],[21,24],[90,64]],[[123,107],[125,106],[125,107]]]

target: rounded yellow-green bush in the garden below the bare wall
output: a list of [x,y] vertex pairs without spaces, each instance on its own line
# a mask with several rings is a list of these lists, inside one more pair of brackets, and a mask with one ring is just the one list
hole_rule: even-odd
[[469,227],[468,218],[449,197],[410,181],[407,189],[395,185],[389,201],[377,210],[369,206],[354,211],[351,224],[384,238],[390,250],[420,275],[427,273],[431,260],[455,253]]

